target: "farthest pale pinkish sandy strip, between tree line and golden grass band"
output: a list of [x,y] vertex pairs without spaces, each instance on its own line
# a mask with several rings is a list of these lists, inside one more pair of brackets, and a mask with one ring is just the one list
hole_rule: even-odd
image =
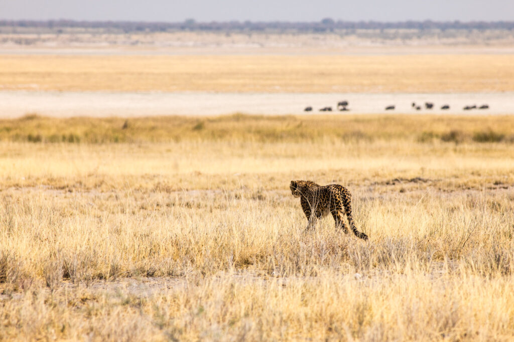
[[[509,30],[342,30],[337,32],[132,32],[101,28],[8,28],[0,53],[512,53]],[[17,52],[16,52],[17,51]],[[486,52],[487,51],[487,52]]]

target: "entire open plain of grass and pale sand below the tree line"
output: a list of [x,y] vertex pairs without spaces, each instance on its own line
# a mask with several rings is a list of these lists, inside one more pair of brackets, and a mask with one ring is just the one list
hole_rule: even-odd
[[[22,31],[0,35],[0,340],[514,339],[509,32]],[[343,93],[355,112],[302,112]],[[347,187],[369,240],[306,230],[293,179]]]

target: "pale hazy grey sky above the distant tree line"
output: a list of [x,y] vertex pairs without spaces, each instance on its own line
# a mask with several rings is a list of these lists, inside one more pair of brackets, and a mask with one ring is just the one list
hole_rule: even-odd
[[0,19],[77,21],[146,21],[182,22],[192,18],[197,22],[317,22],[330,17],[342,21],[512,21],[514,2],[490,0],[406,1],[364,0],[339,2],[322,0],[317,3],[285,0],[280,3],[221,0],[191,0],[187,3],[150,0],[141,6],[136,0],[65,1],[0,0]]

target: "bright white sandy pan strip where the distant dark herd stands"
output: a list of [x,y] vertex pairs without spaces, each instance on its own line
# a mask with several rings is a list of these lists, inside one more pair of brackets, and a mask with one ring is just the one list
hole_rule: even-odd
[[[347,100],[350,111],[341,113],[453,113],[514,114],[514,93],[214,93],[214,92],[41,92],[0,91],[0,117],[15,118],[28,113],[44,116],[152,116],[303,114]],[[434,109],[416,111],[411,104],[434,103]],[[449,105],[449,110],[440,106]],[[488,104],[487,110],[463,110],[464,106]],[[395,110],[386,111],[389,105]]]

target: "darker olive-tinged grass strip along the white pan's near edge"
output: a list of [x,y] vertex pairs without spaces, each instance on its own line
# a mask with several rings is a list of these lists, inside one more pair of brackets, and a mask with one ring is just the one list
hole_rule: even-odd
[[0,141],[43,143],[514,142],[511,115],[244,115],[0,119]]

